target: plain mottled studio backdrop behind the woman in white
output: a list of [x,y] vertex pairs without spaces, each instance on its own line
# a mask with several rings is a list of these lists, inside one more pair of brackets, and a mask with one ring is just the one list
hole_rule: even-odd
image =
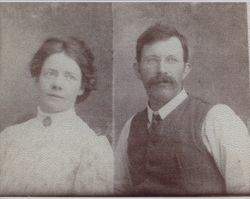
[[111,131],[111,3],[0,3],[0,130],[35,113],[38,93],[29,62],[51,36],[75,36],[92,49],[98,88],[77,106],[96,131]]

